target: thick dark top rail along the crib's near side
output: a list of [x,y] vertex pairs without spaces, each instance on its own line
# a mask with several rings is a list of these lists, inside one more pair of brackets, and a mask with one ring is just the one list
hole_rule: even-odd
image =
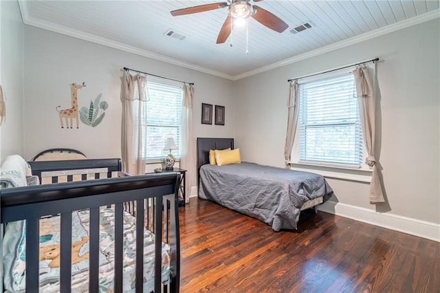
[[[36,215],[53,215],[58,210],[71,210],[71,206],[61,206],[63,199],[81,199],[74,201],[74,210],[88,208],[91,204],[100,203],[100,205],[113,204],[115,200],[124,199],[129,202],[129,194],[137,195],[135,199],[150,198],[154,194],[167,195],[175,193],[176,175],[157,176],[159,174],[148,174],[141,176],[127,176],[119,178],[109,178],[96,181],[66,182],[59,184],[46,184],[37,186],[25,186],[17,188],[6,188],[1,191],[1,209],[26,210]],[[140,192],[142,190],[142,192]],[[120,197],[123,192],[124,197]],[[96,195],[107,194],[106,197]],[[47,203],[46,203],[47,202]],[[50,204],[50,202],[54,204]],[[38,204],[39,210],[33,209],[30,204]],[[11,215],[9,221],[17,221],[14,217],[24,217],[25,215]],[[3,217],[3,213],[1,215]]]

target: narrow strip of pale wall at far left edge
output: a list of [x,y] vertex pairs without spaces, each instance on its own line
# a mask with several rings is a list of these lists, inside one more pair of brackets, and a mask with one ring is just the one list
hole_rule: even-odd
[[0,85],[6,120],[0,127],[0,161],[23,155],[23,22],[17,1],[0,1]]

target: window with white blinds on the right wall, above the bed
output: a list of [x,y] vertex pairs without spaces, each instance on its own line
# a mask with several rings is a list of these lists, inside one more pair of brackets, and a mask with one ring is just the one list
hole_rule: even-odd
[[299,85],[299,162],[361,168],[362,130],[353,74]]

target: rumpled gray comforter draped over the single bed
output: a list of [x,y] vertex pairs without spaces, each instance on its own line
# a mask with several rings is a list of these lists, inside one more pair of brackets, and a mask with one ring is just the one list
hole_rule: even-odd
[[247,162],[200,169],[200,198],[259,219],[274,231],[296,229],[305,202],[331,195],[324,177],[315,173]]

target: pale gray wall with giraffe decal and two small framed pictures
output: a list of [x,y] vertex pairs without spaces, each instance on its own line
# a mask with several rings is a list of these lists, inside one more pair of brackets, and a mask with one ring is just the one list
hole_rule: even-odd
[[[122,67],[195,83],[194,137],[234,137],[232,81],[203,74],[110,47],[89,43],[25,25],[25,158],[44,149],[69,147],[88,158],[120,158],[120,76]],[[98,127],[80,123],[79,129],[61,129],[58,112],[70,107],[71,83],[78,90],[79,107],[89,107],[102,93],[109,102]],[[201,102],[225,106],[225,126],[201,124]]]

